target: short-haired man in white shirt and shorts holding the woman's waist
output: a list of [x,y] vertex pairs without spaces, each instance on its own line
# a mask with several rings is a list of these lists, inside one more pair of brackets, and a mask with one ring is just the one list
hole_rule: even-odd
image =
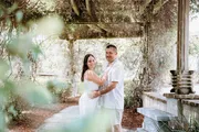
[[92,98],[101,97],[102,110],[112,114],[109,129],[114,132],[122,132],[122,118],[124,111],[124,67],[117,58],[117,47],[106,46],[106,67],[107,78],[103,89],[93,91]]

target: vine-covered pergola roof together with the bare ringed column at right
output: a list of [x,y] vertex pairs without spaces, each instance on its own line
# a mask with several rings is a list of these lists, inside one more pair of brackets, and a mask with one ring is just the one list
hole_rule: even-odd
[[[188,21],[189,6],[197,9],[195,0],[55,0],[51,4],[42,0],[1,0],[4,13],[0,20],[12,20],[11,29],[18,26],[14,13],[23,12],[22,23],[44,15],[59,14],[64,21],[64,31],[60,38],[73,43],[82,38],[148,37],[148,28],[156,23],[155,18],[166,4],[178,9],[178,55],[177,70],[172,70],[172,82],[177,94],[179,88],[191,89],[188,69]],[[17,8],[13,8],[14,4]],[[13,8],[11,14],[7,9]],[[164,15],[164,14],[163,14]],[[169,14],[167,14],[169,15]],[[171,19],[168,16],[168,19]],[[165,20],[166,21],[166,20]],[[170,20],[171,21],[171,20]],[[150,46],[147,41],[147,45]],[[192,92],[189,90],[187,94]]]

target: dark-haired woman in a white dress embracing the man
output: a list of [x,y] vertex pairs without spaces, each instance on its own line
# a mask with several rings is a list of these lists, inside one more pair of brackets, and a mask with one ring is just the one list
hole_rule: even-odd
[[78,100],[80,114],[91,116],[96,111],[98,105],[98,98],[91,99],[91,94],[94,90],[98,90],[98,87],[105,82],[106,75],[100,78],[94,72],[95,57],[92,54],[87,54],[84,57],[82,77],[81,80],[84,82],[84,94]]

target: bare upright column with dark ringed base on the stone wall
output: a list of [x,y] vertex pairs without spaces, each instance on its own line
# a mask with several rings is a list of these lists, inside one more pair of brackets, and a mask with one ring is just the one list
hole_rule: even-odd
[[177,70],[172,76],[171,92],[192,94],[192,70],[189,70],[189,0],[178,0]]

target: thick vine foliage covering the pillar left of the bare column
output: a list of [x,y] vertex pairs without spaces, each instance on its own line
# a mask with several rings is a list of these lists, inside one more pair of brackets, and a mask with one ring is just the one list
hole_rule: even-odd
[[[145,56],[148,77],[148,88],[158,90],[164,82],[170,81],[169,70],[174,66],[174,47],[177,38],[177,1],[170,0],[164,4],[156,15],[148,12],[149,23],[146,23],[146,41],[143,54]],[[154,23],[155,22],[155,23]],[[146,76],[146,75],[144,75]]]

